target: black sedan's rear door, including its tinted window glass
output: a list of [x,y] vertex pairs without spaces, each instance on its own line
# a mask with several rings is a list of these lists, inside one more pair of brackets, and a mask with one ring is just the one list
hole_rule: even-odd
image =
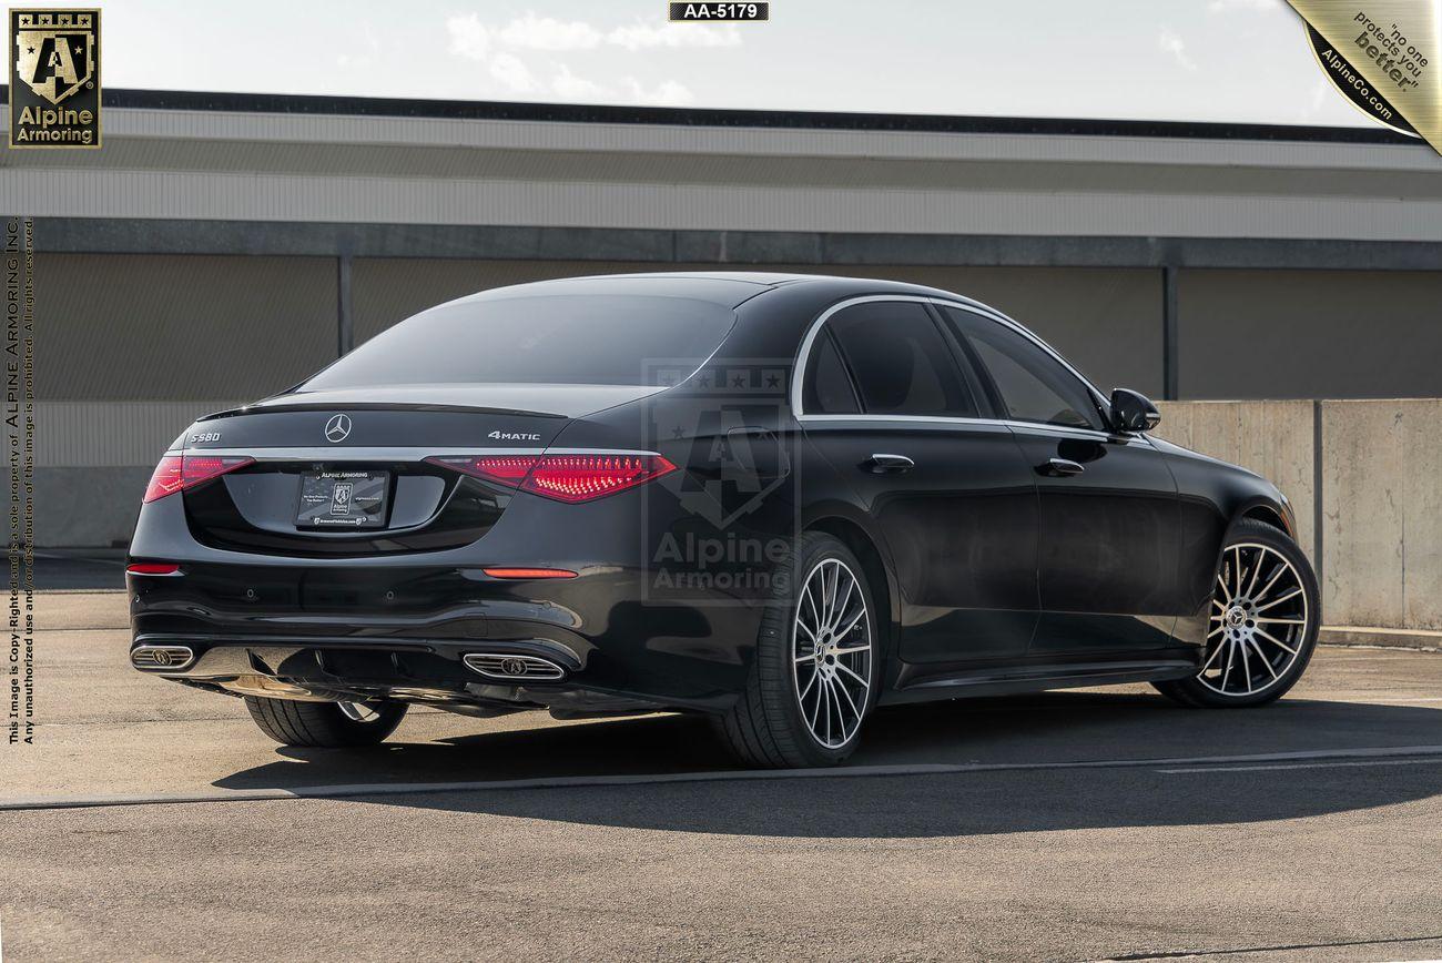
[[911,663],[1017,657],[1035,627],[1035,486],[989,415],[921,300],[851,303],[816,330],[800,421],[887,542]]

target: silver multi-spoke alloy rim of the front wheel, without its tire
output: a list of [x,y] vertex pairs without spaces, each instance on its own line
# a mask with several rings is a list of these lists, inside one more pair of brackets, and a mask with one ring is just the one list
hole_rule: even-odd
[[1197,680],[1226,696],[1253,696],[1280,682],[1302,652],[1306,590],[1280,552],[1256,542],[1227,548],[1207,621]]

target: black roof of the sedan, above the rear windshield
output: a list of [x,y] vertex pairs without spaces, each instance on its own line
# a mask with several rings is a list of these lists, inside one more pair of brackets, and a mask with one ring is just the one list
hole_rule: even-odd
[[[460,301],[502,300],[525,297],[559,296],[632,296],[632,297],[684,297],[709,301],[724,307],[737,307],[757,294],[779,288],[806,285],[828,288],[836,296],[846,294],[911,294],[921,297],[943,297],[953,301],[976,304],[972,298],[952,291],[887,281],[883,278],[839,277],[831,274],[800,274],[773,271],[650,271],[643,274],[594,274],[587,277],[554,278],[513,284],[509,287],[479,291]],[[818,291],[822,294],[823,291]]]

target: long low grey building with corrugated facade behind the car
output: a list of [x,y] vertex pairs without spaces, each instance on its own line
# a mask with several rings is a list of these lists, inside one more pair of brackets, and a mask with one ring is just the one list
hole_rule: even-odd
[[42,499],[42,543],[124,538],[193,415],[547,277],[893,277],[1001,307],[1103,386],[1442,395],[1442,159],[1419,144],[284,110],[107,107],[99,151],[0,156],[0,209],[39,221],[40,467],[95,500]]

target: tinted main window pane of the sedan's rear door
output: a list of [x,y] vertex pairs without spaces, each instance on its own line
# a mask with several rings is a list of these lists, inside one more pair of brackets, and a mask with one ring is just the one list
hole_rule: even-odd
[[857,376],[867,414],[976,417],[956,359],[921,304],[854,304],[826,324]]

